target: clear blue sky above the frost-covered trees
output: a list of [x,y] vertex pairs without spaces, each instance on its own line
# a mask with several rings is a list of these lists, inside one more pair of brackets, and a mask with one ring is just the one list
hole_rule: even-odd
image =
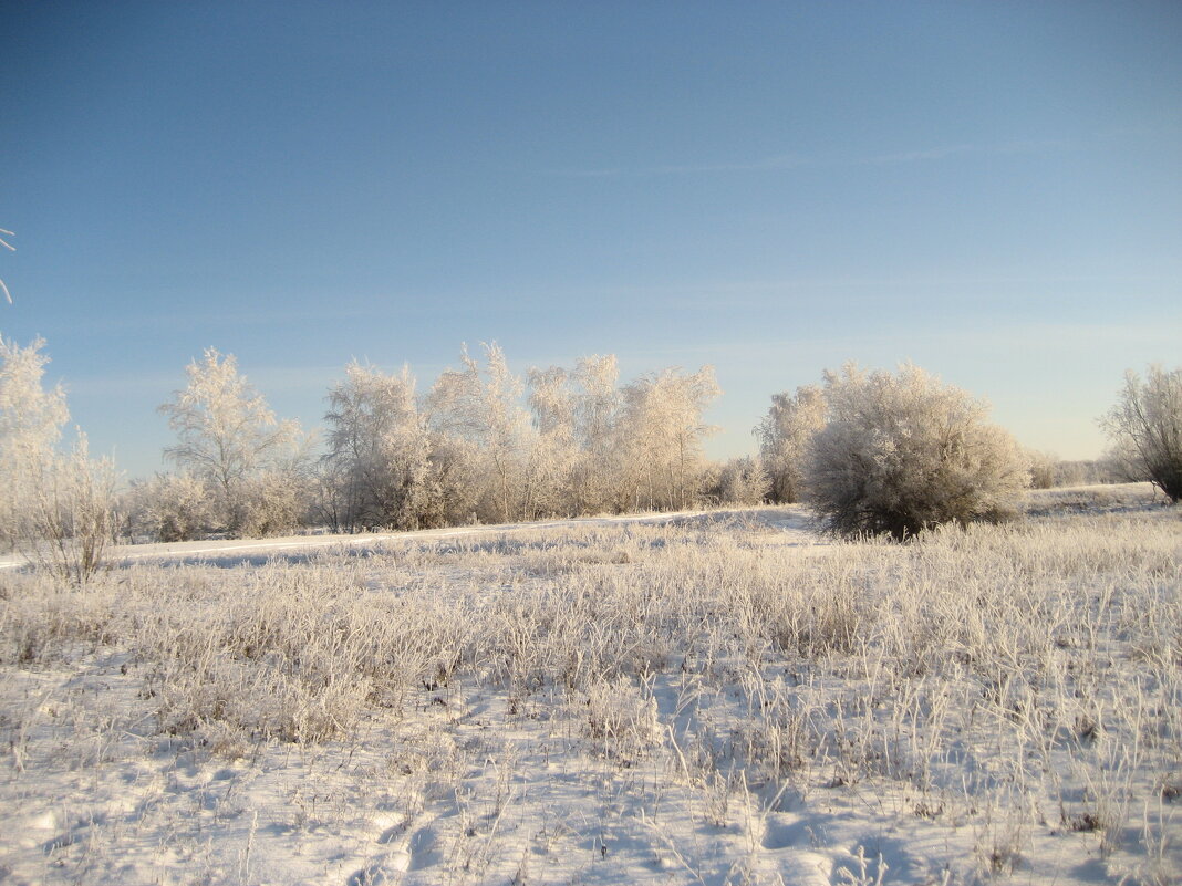
[[206,346],[318,423],[421,389],[716,366],[769,396],[911,359],[1063,457],[1182,363],[1182,4],[13,2],[0,333],[131,475]]

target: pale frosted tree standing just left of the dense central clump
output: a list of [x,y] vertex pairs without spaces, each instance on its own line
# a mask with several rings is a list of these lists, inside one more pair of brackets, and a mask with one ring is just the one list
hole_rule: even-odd
[[177,436],[164,456],[207,484],[232,535],[291,529],[309,444],[299,423],[275,419],[233,354],[206,348],[184,371],[188,385],[160,406]]

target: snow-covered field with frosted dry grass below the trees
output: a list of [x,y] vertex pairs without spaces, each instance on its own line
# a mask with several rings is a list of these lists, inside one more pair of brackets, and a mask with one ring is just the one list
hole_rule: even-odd
[[0,882],[1178,882],[1148,497],[907,546],[765,508],[6,569]]

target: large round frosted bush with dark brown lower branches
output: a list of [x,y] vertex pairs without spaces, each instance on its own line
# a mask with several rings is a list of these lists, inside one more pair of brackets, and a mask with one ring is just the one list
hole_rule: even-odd
[[829,422],[812,439],[805,500],[826,528],[896,539],[947,522],[999,520],[1028,482],[988,406],[923,370],[825,373]]

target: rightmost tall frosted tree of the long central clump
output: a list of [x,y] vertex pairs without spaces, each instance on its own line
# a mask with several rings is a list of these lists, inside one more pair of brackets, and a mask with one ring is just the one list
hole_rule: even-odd
[[674,510],[696,502],[702,441],[714,431],[702,413],[719,393],[713,366],[688,376],[665,369],[624,387],[617,439],[635,507]]

